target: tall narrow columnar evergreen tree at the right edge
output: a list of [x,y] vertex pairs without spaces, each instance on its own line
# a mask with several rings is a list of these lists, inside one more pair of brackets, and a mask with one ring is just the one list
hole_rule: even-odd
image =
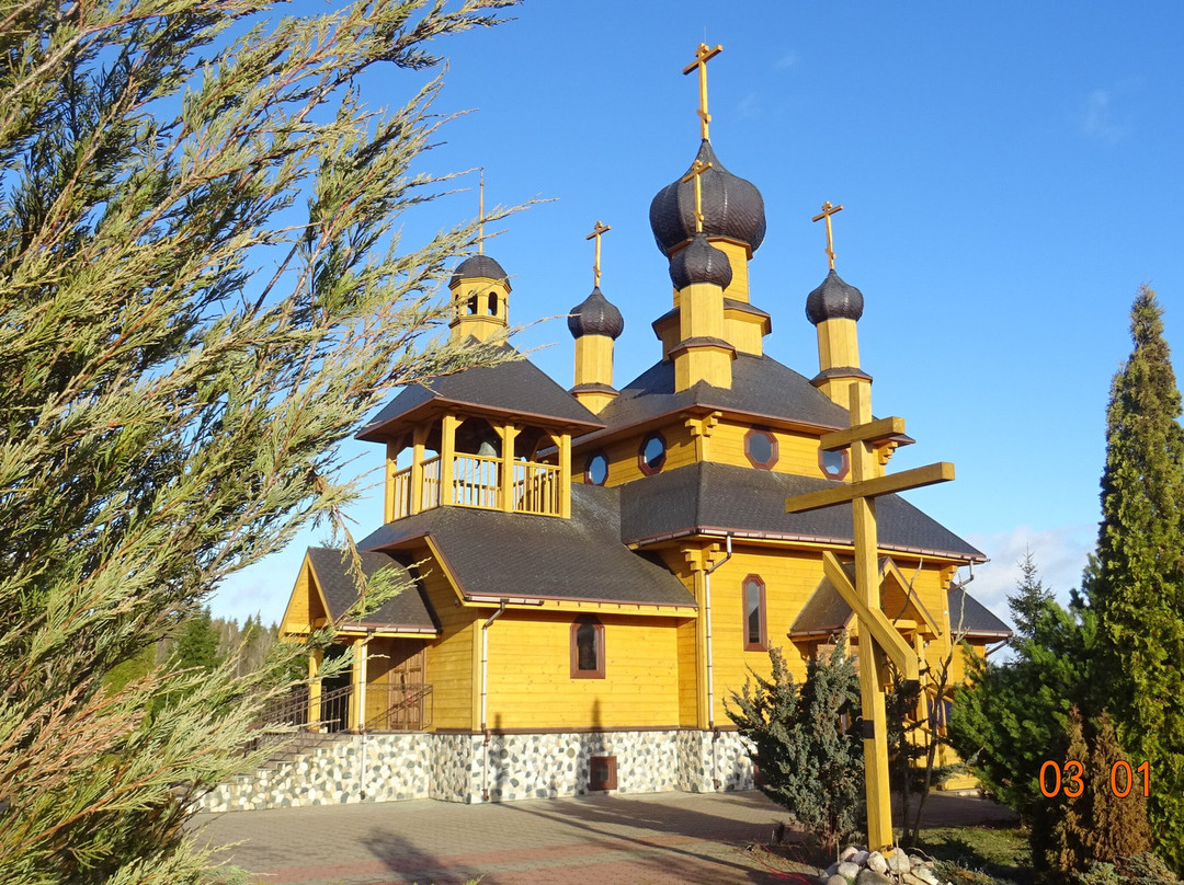
[[1143,286],[1131,309],[1134,349],[1114,376],[1096,573],[1108,708],[1132,756],[1151,762],[1159,848],[1184,868],[1184,429],[1163,311]]

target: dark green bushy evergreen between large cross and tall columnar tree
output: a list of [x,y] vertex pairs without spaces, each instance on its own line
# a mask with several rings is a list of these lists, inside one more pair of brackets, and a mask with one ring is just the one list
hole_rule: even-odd
[[1025,570],[1010,597],[1014,613],[1035,609],[1035,616],[1016,618],[1012,659],[972,663],[970,684],[954,693],[948,728],[951,744],[986,792],[1025,819],[1041,800],[1041,766],[1063,745],[1069,709],[1101,710],[1105,687],[1094,678],[1094,614],[1080,600],[1066,609],[1042,588],[1034,592],[1034,579]]

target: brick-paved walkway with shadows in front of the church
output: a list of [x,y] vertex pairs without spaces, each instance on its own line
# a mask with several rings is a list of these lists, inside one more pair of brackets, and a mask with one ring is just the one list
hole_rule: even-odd
[[[1006,816],[934,796],[934,822]],[[662,793],[464,806],[431,800],[202,814],[199,839],[257,883],[321,885],[674,885],[792,881],[748,852],[785,812],[760,793]],[[800,880],[799,880],[800,881]]]

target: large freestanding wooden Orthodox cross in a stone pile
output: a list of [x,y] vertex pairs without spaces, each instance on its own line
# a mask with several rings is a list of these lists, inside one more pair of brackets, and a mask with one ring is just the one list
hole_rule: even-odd
[[823,451],[850,450],[851,482],[785,502],[789,513],[851,503],[855,529],[855,586],[847,579],[838,558],[823,554],[826,577],[858,618],[860,693],[863,704],[863,768],[867,781],[868,847],[893,844],[892,796],[888,786],[888,734],[884,713],[887,660],[895,664],[906,680],[919,678],[916,653],[883,613],[880,594],[876,498],[881,495],[919,489],[954,478],[954,465],[946,461],[906,470],[893,476],[875,476],[876,447],[888,445],[905,433],[902,418],[871,418],[871,392],[852,383],[849,398],[849,427],[819,440]]

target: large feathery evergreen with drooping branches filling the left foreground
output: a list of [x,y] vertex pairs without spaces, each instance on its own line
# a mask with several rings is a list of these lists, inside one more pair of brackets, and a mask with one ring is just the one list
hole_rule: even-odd
[[[6,5],[0,881],[206,879],[185,821],[251,764],[278,665],[104,679],[340,522],[335,446],[394,385],[478,358],[414,347],[476,225],[412,250],[392,222],[439,187],[427,41],[501,5]],[[411,78],[387,116],[354,86],[375,66]]]

